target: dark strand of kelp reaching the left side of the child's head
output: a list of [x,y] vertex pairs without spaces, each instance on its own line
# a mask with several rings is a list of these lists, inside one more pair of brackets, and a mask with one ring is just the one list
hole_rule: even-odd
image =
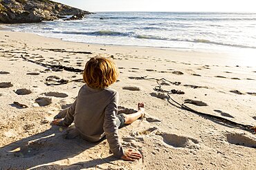
[[73,67],[66,67],[64,65],[50,65],[50,64],[46,64],[46,63],[40,63],[38,61],[32,61],[30,59],[27,59],[23,55],[21,55],[21,58],[24,59],[25,61],[29,61],[31,63],[35,63],[37,65],[42,65],[43,67],[47,67],[47,68],[51,68],[51,69],[54,69],[54,68],[55,69],[62,69],[62,70],[66,70],[68,72],[83,72],[84,71],[84,70],[73,68]]

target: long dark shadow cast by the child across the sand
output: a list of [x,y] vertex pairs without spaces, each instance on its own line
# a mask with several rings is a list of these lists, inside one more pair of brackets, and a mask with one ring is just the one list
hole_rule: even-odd
[[1,147],[0,169],[80,169],[95,167],[96,165],[106,162],[110,163],[116,160],[113,156],[109,156],[104,159],[84,158],[84,162],[78,162],[70,166],[57,164],[45,165],[57,160],[73,158],[86,149],[90,149],[99,144],[99,142],[87,142],[86,140],[82,140],[79,136],[73,139],[66,139],[68,130],[70,129],[63,129],[62,131],[60,127],[53,126],[51,129],[43,131],[42,133]]

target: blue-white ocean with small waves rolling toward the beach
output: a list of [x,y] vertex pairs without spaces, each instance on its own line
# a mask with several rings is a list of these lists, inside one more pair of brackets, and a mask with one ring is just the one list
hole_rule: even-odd
[[256,50],[256,13],[97,12],[77,21],[44,21],[5,27],[83,43]]

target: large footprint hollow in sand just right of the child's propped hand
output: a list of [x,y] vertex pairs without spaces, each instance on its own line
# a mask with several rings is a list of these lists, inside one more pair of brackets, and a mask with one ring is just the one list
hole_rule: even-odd
[[163,137],[163,142],[176,148],[199,149],[199,140],[188,136],[179,136],[176,134],[167,134],[159,132],[157,135]]

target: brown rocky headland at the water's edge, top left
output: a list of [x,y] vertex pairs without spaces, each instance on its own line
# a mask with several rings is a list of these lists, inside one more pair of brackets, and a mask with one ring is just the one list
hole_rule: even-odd
[[91,13],[49,0],[0,0],[0,23],[82,19],[86,14]]

